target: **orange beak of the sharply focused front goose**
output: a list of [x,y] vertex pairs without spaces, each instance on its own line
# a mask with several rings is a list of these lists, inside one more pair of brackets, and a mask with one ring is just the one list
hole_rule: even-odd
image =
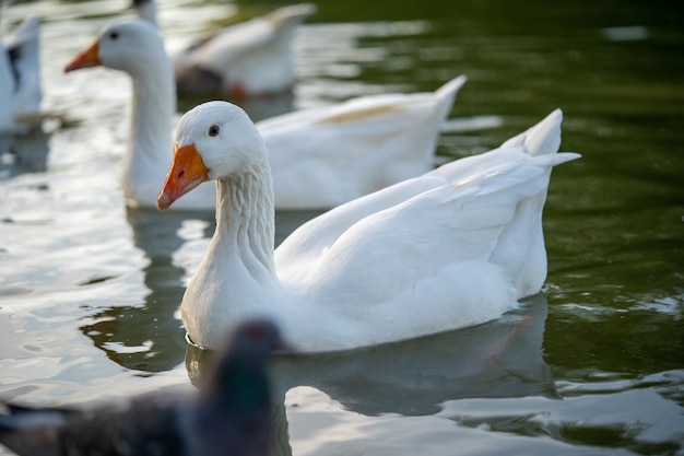
[[168,209],[174,201],[192,190],[198,185],[209,180],[209,168],[204,166],[200,153],[194,144],[178,148],[174,145],[174,161],[172,162],[164,186],[156,197],[156,207],[161,211]]

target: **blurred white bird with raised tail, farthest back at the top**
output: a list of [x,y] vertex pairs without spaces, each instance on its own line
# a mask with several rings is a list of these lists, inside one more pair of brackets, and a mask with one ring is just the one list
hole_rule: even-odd
[[[133,0],[133,5],[156,25],[154,0]],[[287,5],[192,43],[174,57],[178,91],[233,97],[288,91],[295,82],[294,30],[315,12],[311,3]]]

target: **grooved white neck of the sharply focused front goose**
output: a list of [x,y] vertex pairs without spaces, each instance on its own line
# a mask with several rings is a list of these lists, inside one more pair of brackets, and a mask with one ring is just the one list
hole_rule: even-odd
[[216,180],[216,231],[180,305],[186,329],[200,344],[243,318],[280,309],[273,191],[267,179],[268,169]]

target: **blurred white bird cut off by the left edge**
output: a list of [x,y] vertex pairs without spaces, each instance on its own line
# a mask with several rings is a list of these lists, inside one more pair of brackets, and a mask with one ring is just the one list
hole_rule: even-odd
[[14,34],[0,42],[0,132],[26,131],[39,121],[40,23],[26,17]]

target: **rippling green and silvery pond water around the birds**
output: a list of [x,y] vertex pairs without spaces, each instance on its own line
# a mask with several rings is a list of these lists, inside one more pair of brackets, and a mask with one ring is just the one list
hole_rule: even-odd
[[[173,49],[275,5],[161,0],[160,22]],[[213,213],[126,209],[129,81],[62,73],[127,7],[17,1],[1,14],[3,34],[42,17],[44,108],[62,117],[0,141],[3,399],[114,400],[199,375],[176,312]],[[274,453],[683,455],[684,3],[326,0],[295,49],[294,96],[247,104],[255,118],[465,73],[445,160],[556,107],[561,149],[583,157],[552,176],[543,294],[474,328],[275,360]],[[278,238],[312,215],[279,213]]]

